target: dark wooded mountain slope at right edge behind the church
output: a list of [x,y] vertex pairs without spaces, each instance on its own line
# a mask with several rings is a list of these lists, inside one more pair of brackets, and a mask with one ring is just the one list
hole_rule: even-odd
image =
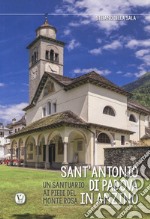
[[123,88],[133,94],[132,99],[150,107],[150,72],[144,74],[138,80],[123,86]]

